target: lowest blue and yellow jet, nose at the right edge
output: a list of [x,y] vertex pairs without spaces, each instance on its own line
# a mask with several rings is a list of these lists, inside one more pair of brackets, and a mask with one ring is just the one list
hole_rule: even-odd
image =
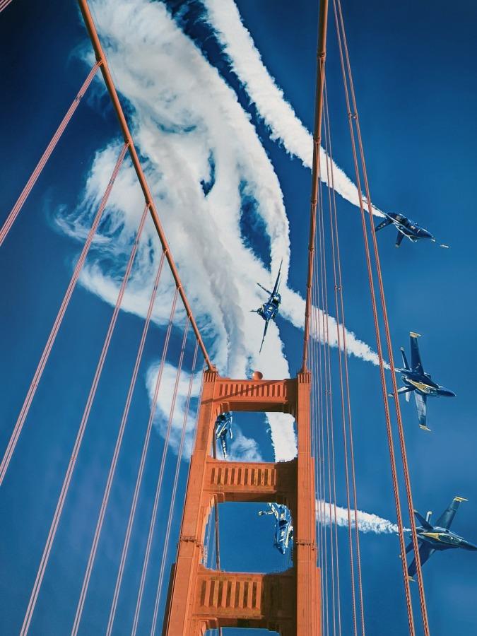
[[[477,546],[474,546],[473,543],[466,541],[458,534],[449,530],[461,501],[467,500],[464,499],[464,497],[454,497],[451,505],[449,505],[449,507],[441,514],[439,519],[437,519],[437,524],[435,524],[435,526],[430,523],[432,512],[429,511],[424,518],[422,514],[419,514],[417,510],[414,510],[416,518],[422,524],[417,528],[420,565],[423,565],[436,550],[449,550],[449,548],[477,550]],[[406,554],[411,552],[412,549],[413,543],[411,541],[406,548]],[[408,577],[411,581],[414,580],[413,577],[415,574],[416,559],[413,559],[411,565],[408,567]]]

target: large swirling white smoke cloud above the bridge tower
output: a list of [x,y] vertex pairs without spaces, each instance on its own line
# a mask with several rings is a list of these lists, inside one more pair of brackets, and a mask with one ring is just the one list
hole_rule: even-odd
[[[95,0],[93,8],[115,81],[129,102],[134,138],[172,254],[199,328],[211,343],[211,357],[223,375],[247,377],[259,368],[264,377],[289,377],[278,327],[270,324],[258,355],[263,323],[249,312],[264,301],[256,281],[270,288],[283,259],[283,316],[298,327],[304,320],[304,301],[286,286],[290,242],[283,195],[257,131],[235,93],[162,4]],[[60,209],[59,223],[70,235],[84,237],[118,154],[118,143],[98,151],[81,208],[70,215]],[[242,232],[244,202],[247,223],[259,219],[264,226],[271,271]],[[81,276],[86,288],[111,304],[142,210],[143,196],[126,161]],[[148,222],[124,310],[144,317],[159,258],[158,238]],[[167,322],[173,292],[165,267],[155,323]],[[177,314],[181,324],[180,304]],[[365,343],[350,332],[347,338],[348,353],[376,363]],[[164,400],[161,394],[163,406]],[[293,419],[273,413],[269,424],[276,459],[295,457]]]

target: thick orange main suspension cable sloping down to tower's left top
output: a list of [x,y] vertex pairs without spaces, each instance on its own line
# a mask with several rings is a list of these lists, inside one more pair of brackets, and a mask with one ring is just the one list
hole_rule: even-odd
[[163,246],[165,258],[167,259],[167,263],[170,266],[170,270],[172,272],[172,276],[174,278],[177,290],[179,291],[179,295],[182,298],[182,302],[184,303],[184,308],[187,312],[187,317],[189,318],[191,322],[192,329],[194,329],[194,334],[196,336],[197,341],[199,342],[199,347],[201,348],[202,354],[204,355],[207,367],[209,369],[212,369],[213,365],[211,363],[211,359],[208,357],[206,346],[204,345],[204,341],[202,340],[201,334],[199,332],[199,327],[196,324],[194,314],[192,314],[192,309],[189,305],[189,301],[187,300],[187,296],[185,295],[184,288],[182,287],[182,281],[179,276],[179,271],[177,271],[177,266],[174,262],[174,259],[172,258],[172,254],[170,252],[170,247],[169,247],[169,244],[167,243],[167,239],[165,237],[163,226],[160,223],[158,211],[155,208],[153,195],[151,194],[151,190],[149,189],[148,183],[146,181],[146,175],[144,175],[143,169],[141,167],[141,163],[139,161],[138,154],[136,152],[136,148],[134,147],[134,141],[131,137],[131,132],[129,131],[129,126],[126,122],[126,117],[124,116],[124,111],[122,110],[121,102],[119,102],[119,97],[117,95],[114,82],[112,81],[112,76],[110,73],[110,69],[107,65],[105,52],[102,49],[100,38],[98,37],[98,32],[96,30],[95,23],[93,22],[93,16],[91,16],[91,13],[90,13],[88,2],[86,0],[78,0],[78,4],[80,6],[81,13],[83,14],[83,20],[85,22],[86,29],[88,30],[91,44],[93,45],[96,61],[100,63],[102,77],[105,81],[108,93],[110,93],[112,106],[114,108],[114,111],[117,114],[117,118],[119,120],[119,126],[124,136],[124,141],[126,141],[126,143],[129,143],[129,146],[128,146],[129,155],[131,156],[131,161],[134,166],[134,170],[136,170],[136,175],[138,177],[139,184],[141,185],[144,198],[146,199],[146,204],[148,204],[149,210],[151,211],[151,218],[153,219],[155,229],[158,232],[159,240]]

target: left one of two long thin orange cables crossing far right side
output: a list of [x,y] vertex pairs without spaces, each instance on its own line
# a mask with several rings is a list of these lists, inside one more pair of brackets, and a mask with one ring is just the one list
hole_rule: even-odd
[[[380,334],[380,331],[379,331],[379,318],[378,318],[378,313],[377,313],[375,284],[374,284],[373,275],[372,275],[372,262],[371,262],[371,254],[370,254],[369,242],[368,242],[368,238],[367,238],[365,210],[364,210],[364,204],[363,204],[363,194],[361,192],[361,179],[360,179],[360,170],[359,170],[359,167],[358,167],[358,154],[357,154],[357,151],[356,151],[355,134],[354,134],[354,129],[353,129],[354,114],[351,111],[351,102],[350,102],[349,93],[348,93],[348,83],[347,83],[347,79],[346,79],[346,69],[345,69],[344,57],[343,57],[343,45],[342,45],[342,42],[341,42],[341,28],[340,28],[340,23],[338,23],[338,12],[337,12],[337,8],[336,8],[336,6],[337,6],[336,0],[334,0],[333,6],[334,6],[334,14],[335,14],[336,33],[337,33],[337,36],[338,36],[338,49],[339,49],[339,52],[340,52],[341,71],[342,71],[342,75],[343,75],[343,88],[345,90],[346,107],[348,109],[348,124],[349,124],[350,135],[351,135],[351,146],[352,146],[352,151],[353,151],[353,164],[354,164],[354,167],[355,167],[356,187],[358,189],[358,198],[359,198],[360,213],[361,213],[361,223],[362,223],[362,226],[363,226],[363,240],[364,240],[364,246],[365,246],[367,276],[368,276],[368,281],[369,281],[369,284],[370,284],[372,315],[373,315],[373,322],[375,324],[375,334],[376,334],[376,341],[377,341],[377,355],[378,355],[378,360],[379,360],[379,377],[380,377],[380,380],[381,380],[381,387],[382,387],[382,400],[383,400],[383,405],[384,405],[384,416],[385,416],[385,420],[386,420],[387,440],[388,440],[388,447],[389,447],[389,458],[390,458],[390,464],[391,464],[391,476],[392,476],[392,483],[393,483],[394,501],[395,501],[395,505],[396,505],[396,522],[397,522],[397,525],[398,525],[398,528],[399,528],[399,533],[398,534],[399,534],[399,543],[400,543],[400,547],[401,547],[401,554],[405,554],[404,524],[403,524],[403,521],[402,521],[401,500],[400,500],[400,497],[399,497],[399,482],[398,482],[397,469],[396,469],[396,457],[395,457],[395,454],[394,454],[394,441],[393,441],[392,428],[391,428],[391,415],[390,415],[390,412],[389,412],[389,404],[388,404],[388,398],[387,398],[386,377],[384,375],[384,358],[383,358],[383,354],[382,354],[381,334]],[[414,635],[416,633],[416,630],[415,630],[415,626],[414,626],[411,591],[409,589],[409,582],[408,582],[408,576],[407,576],[406,563],[405,563],[404,559],[402,561],[403,561],[403,563],[402,563],[401,567],[402,567],[403,582],[404,582],[404,593],[405,593],[405,596],[406,596],[406,607],[407,607],[407,614],[408,614],[408,626],[409,626],[409,632],[411,633],[411,635]]]

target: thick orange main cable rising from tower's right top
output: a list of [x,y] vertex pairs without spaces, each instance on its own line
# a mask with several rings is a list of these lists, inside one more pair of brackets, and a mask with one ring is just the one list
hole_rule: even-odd
[[312,307],[312,280],[314,236],[317,226],[317,199],[319,182],[319,150],[322,141],[324,60],[326,56],[326,23],[328,20],[328,0],[320,0],[317,47],[317,87],[314,106],[312,194],[310,207],[310,242],[308,245],[307,294],[305,304],[305,336],[303,338],[302,371],[307,370],[308,340],[310,338],[310,311]]

